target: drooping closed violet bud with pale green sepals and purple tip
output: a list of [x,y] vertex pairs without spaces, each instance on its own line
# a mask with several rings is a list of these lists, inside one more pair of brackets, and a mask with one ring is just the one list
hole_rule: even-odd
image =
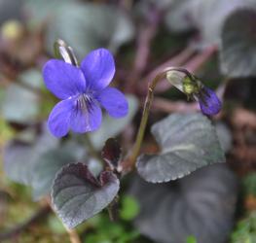
[[221,102],[215,92],[205,87],[196,76],[187,70],[170,68],[170,71],[166,73],[166,79],[172,86],[184,92],[188,99],[197,100],[204,115],[212,116],[219,113]]

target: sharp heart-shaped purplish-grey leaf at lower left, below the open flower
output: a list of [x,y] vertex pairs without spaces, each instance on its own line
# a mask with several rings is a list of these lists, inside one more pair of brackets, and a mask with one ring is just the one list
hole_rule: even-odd
[[97,180],[83,163],[66,165],[57,174],[53,186],[55,211],[65,226],[78,226],[113,201],[119,184],[110,171],[102,172]]

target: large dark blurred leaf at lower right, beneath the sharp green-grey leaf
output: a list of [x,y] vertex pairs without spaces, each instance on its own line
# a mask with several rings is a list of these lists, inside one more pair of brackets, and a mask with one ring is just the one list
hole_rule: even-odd
[[[205,139],[206,140],[206,139]],[[226,164],[214,164],[161,185],[132,180],[140,204],[135,226],[158,243],[224,243],[234,223],[238,178]]]

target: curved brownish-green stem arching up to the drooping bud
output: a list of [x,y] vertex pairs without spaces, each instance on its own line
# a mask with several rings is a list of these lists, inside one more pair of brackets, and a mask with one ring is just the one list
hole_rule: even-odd
[[125,172],[131,170],[134,167],[137,156],[139,155],[141,144],[142,144],[144,134],[145,134],[146,125],[147,125],[147,122],[148,122],[148,117],[149,117],[151,104],[152,104],[153,98],[154,98],[154,89],[158,85],[158,83],[162,79],[165,78],[166,73],[169,72],[169,71],[182,72],[182,73],[186,74],[189,78],[194,79],[194,77],[191,75],[191,73],[188,70],[186,70],[185,68],[170,67],[170,68],[166,68],[163,72],[159,73],[155,77],[155,79],[150,83],[150,85],[148,87],[146,100],[145,100],[145,103],[144,103],[142,118],[141,118],[141,121],[140,121],[140,125],[139,125],[138,133],[137,133],[137,136],[136,136],[135,144],[134,144],[130,154],[127,156],[127,158],[125,159],[124,164],[123,164],[123,170]]

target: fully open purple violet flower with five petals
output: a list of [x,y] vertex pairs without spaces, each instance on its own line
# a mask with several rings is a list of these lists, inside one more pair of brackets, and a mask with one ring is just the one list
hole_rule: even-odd
[[69,129],[85,133],[99,128],[100,105],[113,118],[128,114],[128,101],[115,87],[108,87],[115,74],[112,54],[105,49],[90,52],[76,67],[62,60],[51,59],[43,68],[46,87],[61,99],[48,120],[56,137]]

